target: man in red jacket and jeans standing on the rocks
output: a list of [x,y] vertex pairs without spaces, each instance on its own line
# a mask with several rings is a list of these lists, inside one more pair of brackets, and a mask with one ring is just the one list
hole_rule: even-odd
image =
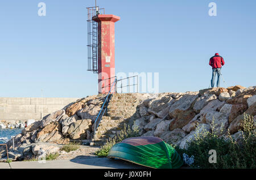
[[216,72],[218,75],[217,87],[220,87],[221,66],[224,66],[224,64],[224,59],[220,55],[218,55],[218,53],[216,53],[213,57],[210,58],[209,65],[212,66],[212,88],[214,87]]

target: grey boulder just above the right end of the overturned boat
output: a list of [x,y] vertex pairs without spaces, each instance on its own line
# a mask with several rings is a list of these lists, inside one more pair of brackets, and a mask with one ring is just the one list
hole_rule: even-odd
[[180,128],[176,128],[173,131],[166,131],[160,134],[160,138],[164,140],[164,142],[179,146],[181,143],[181,139],[183,139],[187,134],[181,130]]

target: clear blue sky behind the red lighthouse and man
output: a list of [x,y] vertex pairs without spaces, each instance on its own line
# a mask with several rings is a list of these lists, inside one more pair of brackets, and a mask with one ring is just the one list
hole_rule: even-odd
[[[46,16],[38,16],[38,3]],[[159,72],[160,92],[208,88],[220,53],[224,87],[256,85],[256,1],[98,0],[115,24],[115,71]],[[209,16],[209,3],[217,16]],[[87,12],[94,0],[0,1],[0,96],[97,94],[87,69]]]

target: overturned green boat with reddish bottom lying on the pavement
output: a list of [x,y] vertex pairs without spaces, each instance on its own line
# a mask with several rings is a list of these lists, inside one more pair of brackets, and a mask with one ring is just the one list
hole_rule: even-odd
[[183,159],[176,150],[155,136],[127,138],[113,145],[108,158],[119,158],[158,169],[176,169],[183,165]]

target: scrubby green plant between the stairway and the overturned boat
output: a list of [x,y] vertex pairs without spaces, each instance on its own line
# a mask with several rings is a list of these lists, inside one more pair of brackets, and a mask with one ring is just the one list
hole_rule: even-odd
[[113,147],[113,145],[122,142],[122,140],[126,138],[133,138],[139,136],[139,128],[134,126],[130,128],[129,125],[123,127],[118,135],[115,135],[114,138],[109,138],[105,145],[101,146],[101,149],[98,150],[95,154],[99,157],[106,157],[108,156],[109,150]]

